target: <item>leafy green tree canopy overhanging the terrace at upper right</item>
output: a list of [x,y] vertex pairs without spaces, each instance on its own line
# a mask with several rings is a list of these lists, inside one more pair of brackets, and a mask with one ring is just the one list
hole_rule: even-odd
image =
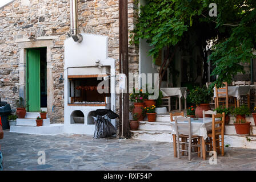
[[[217,17],[210,17],[210,3],[217,4]],[[217,66],[211,73],[216,84],[229,84],[234,75],[244,73],[240,64],[255,58],[256,1],[254,0],[147,0],[140,14],[131,43],[146,39],[152,46],[149,55],[155,58],[163,48],[174,49],[182,44],[185,49],[187,34],[197,35],[201,46],[212,40],[209,61]]]

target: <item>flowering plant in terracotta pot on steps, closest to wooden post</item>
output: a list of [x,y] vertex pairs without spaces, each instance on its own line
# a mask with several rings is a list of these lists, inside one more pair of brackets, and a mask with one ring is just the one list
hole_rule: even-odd
[[143,121],[145,115],[143,115],[143,108],[145,107],[145,94],[142,93],[142,89],[133,89],[133,93],[130,94],[130,101],[133,102],[133,114],[138,113],[138,121]]

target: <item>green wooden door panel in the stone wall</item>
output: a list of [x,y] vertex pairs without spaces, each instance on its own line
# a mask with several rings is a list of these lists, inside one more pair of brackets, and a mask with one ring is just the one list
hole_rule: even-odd
[[29,111],[40,111],[40,51],[27,50],[27,104]]

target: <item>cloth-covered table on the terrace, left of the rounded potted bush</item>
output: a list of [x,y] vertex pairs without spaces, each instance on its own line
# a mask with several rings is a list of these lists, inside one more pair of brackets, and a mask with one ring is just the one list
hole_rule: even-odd
[[160,88],[163,93],[163,97],[178,96],[179,98],[179,111],[182,109],[181,98],[184,97],[185,100],[185,109],[187,109],[187,88]]

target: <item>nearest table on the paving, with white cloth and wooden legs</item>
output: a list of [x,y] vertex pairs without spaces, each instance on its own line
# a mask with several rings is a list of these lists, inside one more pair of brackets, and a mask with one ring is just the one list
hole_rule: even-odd
[[[177,120],[179,122],[179,117],[177,117]],[[220,121],[220,120],[221,119],[219,118],[215,119],[215,121]],[[212,129],[212,121],[213,121],[212,118],[198,118],[198,120],[191,118],[191,135],[197,135],[201,137],[203,160],[206,160],[205,140],[208,137],[207,131],[211,131]],[[177,131],[175,129],[175,122],[170,121],[170,123],[171,123],[171,134],[173,135],[174,158],[177,158],[177,146],[176,146]],[[182,126],[183,123],[184,125]],[[188,124],[186,121],[179,122],[179,134],[189,135]]]

